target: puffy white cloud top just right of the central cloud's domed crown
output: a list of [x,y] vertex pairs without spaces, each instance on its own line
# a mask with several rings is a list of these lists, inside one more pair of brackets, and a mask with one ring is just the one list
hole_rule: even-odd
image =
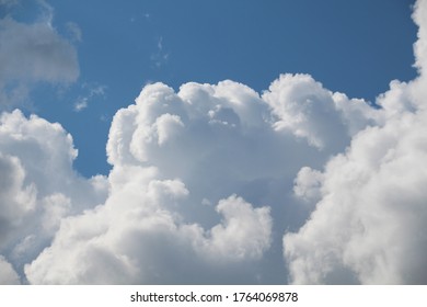
[[365,101],[333,93],[309,75],[282,75],[263,99],[275,116],[274,128],[293,134],[319,149],[342,149],[349,137],[378,117]]

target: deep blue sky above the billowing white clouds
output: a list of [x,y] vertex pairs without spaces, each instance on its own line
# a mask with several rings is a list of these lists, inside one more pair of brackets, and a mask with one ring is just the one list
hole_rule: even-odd
[[[60,90],[32,94],[35,113],[73,138],[77,169],[106,173],[105,143],[114,113],[141,88],[174,89],[230,79],[258,91],[280,73],[310,73],[332,91],[373,101],[390,80],[415,76],[413,1],[49,1],[53,26],[76,46],[80,76]],[[18,20],[38,18],[28,1]],[[43,9],[42,9],[43,10]],[[70,29],[79,32],[79,37]],[[103,94],[93,94],[102,88]],[[60,93],[58,93],[60,92]],[[88,107],[74,112],[79,99]]]

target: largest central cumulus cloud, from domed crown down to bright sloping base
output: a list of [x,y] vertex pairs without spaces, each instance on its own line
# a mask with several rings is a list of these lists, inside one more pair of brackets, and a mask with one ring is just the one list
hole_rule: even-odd
[[[256,282],[247,272],[262,265],[270,248],[273,219],[268,204],[261,203],[268,189],[257,197],[249,192],[253,181],[291,175],[264,160],[264,146],[285,150],[295,143],[270,128],[258,113],[263,109],[268,111],[254,91],[231,81],[188,83],[178,93],[161,83],[147,86],[113,120],[108,198],[62,219],[53,245],[26,265],[28,281]],[[206,200],[217,206],[203,205]],[[113,264],[114,274],[93,273]]]

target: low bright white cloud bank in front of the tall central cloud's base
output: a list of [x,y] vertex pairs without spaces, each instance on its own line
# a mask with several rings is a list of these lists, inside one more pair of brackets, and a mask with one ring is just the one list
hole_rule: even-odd
[[[218,205],[223,224],[206,231],[159,207],[162,201],[176,202],[187,194],[181,182],[150,181],[145,186],[132,195],[130,186],[123,186],[126,192],[116,192],[126,197],[120,202],[115,195],[94,212],[64,220],[53,246],[25,268],[30,282],[206,283],[212,281],[215,268],[223,270],[223,261],[258,259],[268,247],[266,208],[253,209],[233,196],[223,200]],[[246,223],[251,224],[235,236],[236,227]]]

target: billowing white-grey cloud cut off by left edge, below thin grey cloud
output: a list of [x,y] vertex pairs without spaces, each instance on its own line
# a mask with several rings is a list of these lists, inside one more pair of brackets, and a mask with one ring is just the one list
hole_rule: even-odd
[[104,202],[107,182],[81,178],[76,157],[59,124],[20,111],[1,114],[0,254],[18,272],[50,242],[62,217]]

